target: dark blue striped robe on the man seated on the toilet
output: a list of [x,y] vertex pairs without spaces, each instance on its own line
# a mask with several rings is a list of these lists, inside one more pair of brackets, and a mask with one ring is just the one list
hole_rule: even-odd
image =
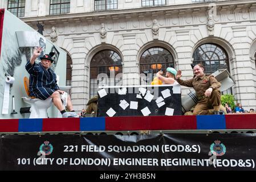
[[31,65],[30,60],[27,61],[25,68],[30,74],[29,91],[31,97],[46,100],[55,90],[59,90],[56,75],[51,68],[46,70],[41,63]]

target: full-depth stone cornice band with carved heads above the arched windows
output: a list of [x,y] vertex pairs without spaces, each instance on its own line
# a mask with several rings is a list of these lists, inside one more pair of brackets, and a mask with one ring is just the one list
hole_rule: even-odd
[[[234,10],[237,5],[233,6],[231,3],[241,3],[241,1],[228,1],[229,5],[217,5],[217,15],[214,16],[212,22],[213,24],[225,24],[225,23],[242,23],[242,22],[255,22],[256,21],[256,2],[255,3],[246,3],[246,8],[250,9],[248,13],[235,13],[230,14],[231,10]],[[217,4],[220,2],[216,2]],[[224,2],[221,2],[224,3]],[[249,6],[250,4],[250,6]],[[51,27],[56,27],[57,33],[59,36],[72,36],[73,34],[76,35],[83,35],[86,33],[85,36],[91,36],[91,34],[98,34],[100,31],[100,24],[104,22],[104,27],[108,35],[112,35],[111,32],[119,32],[124,31],[129,32],[133,30],[146,30],[151,29],[152,27],[152,20],[157,19],[159,26],[159,32],[161,33],[162,28],[170,28],[174,31],[177,30],[177,27],[186,27],[186,26],[206,26],[209,35],[214,35],[214,29],[211,29],[211,25],[209,24],[208,14],[210,10],[209,3],[197,3],[197,7],[185,7],[187,5],[181,6],[161,6],[161,7],[150,7],[144,9],[132,9],[132,10],[123,10],[123,13],[120,14],[119,10],[113,10],[108,12],[97,12],[95,14],[92,12],[90,15],[88,13],[84,14],[75,14],[81,15],[74,17],[74,14],[68,15],[59,15],[59,16],[44,16],[44,17],[37,17],[35,18],[23,18],[26,20],[25,22],[29,24],[32,28],[36,29],[37,19],[40,19],[40,22],[44,22],[46,26],[44,27],[44,36],[50,39],[51,34]],[[194,4],[193,4],[194,6]],[[166,7],[169,7],[166,10]],[[178,9],[182,9],[180,11]],[[220,9],[220,7],[223,7]],[[156,10],[159,10],[157,13]],[[224,11],[226,9],[226,11]],[[229,9],[229,10],[227,10]],[[140,10],[140,11],[139,11]],[[146,11],[147,10],[147,11]],[[150,11],[148,11],[150,10]],[[186,14],[183,14],[183,10],[188,10]],[[219,12],[218,10],[221,10]],[[239,11],[243,11],[239,9]],[[111,12],[111,14],[109,14]],[[115,12],[115,14],[113,14]],[[95,16],[92,16],[95,14]],[[155,15],[157,14],[157,18]],[[82,16],[83,15],[83,16]],[[45,18],[56,18],[56,19],[47,19]],[[43,19],[44,18],[44,19]],[[206,25],[208,23],[208,25]],[[155,28],[155,27],[154,27]],[[214,28],[214,26],[212,26]],[[185,28],[186,29],[186,28]],[[157,30],[157,29],[155,29]],[[180,30],[180,29],[179,29]],[[181,32],[183,30],[181,29]],[[157,31],[152,32],[153,39],[157,39],[158,35],[156,34]],[[182,35],[181,32],[176,32],[181,39],[187,39],[189,33],[186,35]],[[123,34],[122,33],[122,34]],[[99,35],[100,36],[100,35]],[[105,38],[101,38],[101,43],[104,43]]]

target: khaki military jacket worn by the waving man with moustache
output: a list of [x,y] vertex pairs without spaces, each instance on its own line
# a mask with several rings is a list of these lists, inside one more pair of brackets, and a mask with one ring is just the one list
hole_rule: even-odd
[[177,82],[183,86],[193,87],[198,98],[204,96],[205,91],[210,87],[213,89],[219,89],[221,87],[221,83],[218,82],[214,76],[209,74],[205,74],[202,78],[194,76],[189,80],[177,79]]

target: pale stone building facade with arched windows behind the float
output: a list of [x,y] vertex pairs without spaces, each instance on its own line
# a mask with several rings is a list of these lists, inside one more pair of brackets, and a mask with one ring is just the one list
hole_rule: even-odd
[[[9,1],[1,1],[0,7],[7,9]],[[26,0],[25,13],[20,18],[35,30],[37,22],[43,23],[43,35],[70,56],[75,110],[86,107],[93,96],[90,92],[95,85],[90,73],[97,53],[104,50],[117,53],[120,63],[113,65],[113,69],[117,66],[121,69],[123,85],[138,85],[145,51],[159,47],[169,51],[174,68],[181,69],[182,78],[186,79],[193,75],[190,64],[195,63],[195,51],[207,44],[213,46],[201,49],[219,48],[224,52],[225,59],[216,60],[215,64],[216,68],[217,64],[225,65],[233,76],[236,84],[229,92],[235,100],[247,110],[256,109],[255,0],[101,0],[114,2],[104,7],[96,6],[97,0],[67,2],[70,2],[69,10],[65,10],[68,13],[51,14],[52,0]],[[153,2],[159,4],[152,5]],[[206,60],[208,53],[205,52]],[[208,62],[212,71],[213,58]],[[188,92],[188,88],[182,87],[182,95]]]

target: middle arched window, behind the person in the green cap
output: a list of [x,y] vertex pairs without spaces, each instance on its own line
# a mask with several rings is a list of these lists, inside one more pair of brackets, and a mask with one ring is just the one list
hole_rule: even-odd
[[[162,70],[165,73],[168,67],[174,68],[174,60],[167,49],[162,47],[147,49],[140,57],[140,73],[145,73],[145,77],[141,77],[141,85],[150,84],[157,72]],[[148,76],[148,73],[151,73],[151,76]]]

